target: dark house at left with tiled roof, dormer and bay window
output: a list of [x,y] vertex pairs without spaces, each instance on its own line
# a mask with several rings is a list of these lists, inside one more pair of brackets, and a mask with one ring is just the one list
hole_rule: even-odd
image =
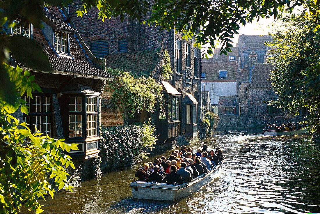
[[[54,138],[79,144],[78,151],[70,151],[73,159],[89,159],[99,153],[100,94],[113,76],[104,69],[104,60],[95,58],[86,48],[72,22],[57,7],[44,7],[43,28],[29,22],[11,34],[21,34],[41,45],[48,56],[52,72],[32,70],[11,57],[12,66],[20,66],[35,75],[35,83],[43,93],[33,93],[33,99],[23,96],[29,114],[17,117]],[[24,21],[23,17],[16,21]],[[22,28],[22,29],[21,29]],[[100,65],[100,62],[102,65]]]

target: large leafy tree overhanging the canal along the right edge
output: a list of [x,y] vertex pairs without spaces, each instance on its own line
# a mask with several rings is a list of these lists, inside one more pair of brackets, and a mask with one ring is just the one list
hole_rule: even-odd
[[304,13],[279,20],[282,29],[277,29],[274,41],[268,43],[273,48],[268,62],[275,65],[270,80],[279,98],[269,104],[295,114],[301,106],[307,107],[307,129],[320,133],[320,29],[315,31],[316,19]]

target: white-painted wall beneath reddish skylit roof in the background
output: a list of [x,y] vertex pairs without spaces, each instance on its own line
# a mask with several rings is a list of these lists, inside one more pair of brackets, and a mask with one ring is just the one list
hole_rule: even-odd
[[237,82],[202,82],[201,91],[209,91],[211,104],[218,104],[220,96],[236,95]]

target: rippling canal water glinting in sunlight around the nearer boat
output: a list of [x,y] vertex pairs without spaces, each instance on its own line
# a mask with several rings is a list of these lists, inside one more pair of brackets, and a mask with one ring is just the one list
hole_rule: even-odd
[[220,146],[226,160],[212,183],[175,202],[132,199],[129,182],[140,166],[135,165],[84,181],[73,193],[62,191],[54,200],[47,197],[40,203],[44,213],[320,212],[320,146],[308,135],[260,133],[261,129],[220,130],[210,139],[187,145]]

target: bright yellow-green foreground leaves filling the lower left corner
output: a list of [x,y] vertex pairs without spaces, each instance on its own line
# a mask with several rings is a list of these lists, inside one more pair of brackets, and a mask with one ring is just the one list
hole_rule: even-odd
[[[32,90],[39,87],[32,83],[34,76],[28,71],[2,65],[7,71],[10,82],[15,86],[16,95],[26,93],[32,98]],[[28,114],[22,99],[16,99],[13,105],[0,98],[0,212],[17,213],[22,204],[29,210],[41,213],[38,197],[50,194],[53,198],[55,186],[65,188],[69,175],[63,166],[74,167],[71,157],[66,155],[71,149],[78,150],[77,144],[66,144],[64,139],[42,136],[37,131],[31,133],[25,122],[12,116],[21,103],[21,111]],[[26,141],[28,139],[28,141]],[[49,177],[50,176],[50,177]],[[49,179],[54,178],[54,185]]]

